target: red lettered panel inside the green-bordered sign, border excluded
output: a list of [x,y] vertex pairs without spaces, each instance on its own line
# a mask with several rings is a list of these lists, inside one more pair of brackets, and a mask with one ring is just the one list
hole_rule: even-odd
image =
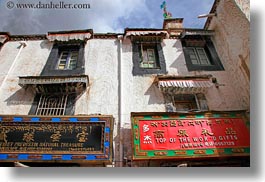
[[243,119],[139,120],[141,150],[249,147]]

